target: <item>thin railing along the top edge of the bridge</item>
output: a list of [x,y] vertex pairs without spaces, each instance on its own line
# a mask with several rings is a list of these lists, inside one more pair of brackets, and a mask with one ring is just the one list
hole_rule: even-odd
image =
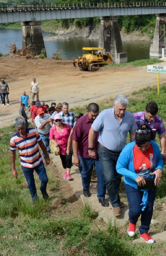
[[16,11],[40,11],[55,9],[74,9],[74,8],[153,8],[165,7],[166,2],[127,2],[127,3],[66,3],[66,4],[42,4],[42,5],[0,5],[0,12],[16,12]]

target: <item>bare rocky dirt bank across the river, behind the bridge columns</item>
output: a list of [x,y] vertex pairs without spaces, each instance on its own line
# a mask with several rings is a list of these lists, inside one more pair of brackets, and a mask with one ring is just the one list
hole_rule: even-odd
[[[53,34],[44,37],[44,41],[54,40],[69,40],[74,37],[88,37],[91,39],[99,39],[100,26],[88,26],[88,27],[75,27],[71,25],[68,29],[58,28],[50,31]],[[123,41],[151,41],[151,38],[145,33],[142,34],[139,30],[135,30],[129,34],[125,33],[124,28],[121,30],[121,38]],[[56,35],[55,35],[56,34]]]

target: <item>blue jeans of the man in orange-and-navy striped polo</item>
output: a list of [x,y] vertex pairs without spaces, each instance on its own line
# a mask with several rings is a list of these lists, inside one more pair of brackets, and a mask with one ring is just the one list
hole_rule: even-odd
[[39,175],[39,179],[41,181],[40,191],[42,192],[42,194],[46,193],[48,178],[47,178],[47,173],[46,173],[43,161],[34,168],[21,166],[21,169],[24,172],[25,178],[27,180],[29,192],[32,196],[32,201],[35,201],[37,192],[36,192],[36,186],[35,186],[35,180],[34,180],[34,170]]

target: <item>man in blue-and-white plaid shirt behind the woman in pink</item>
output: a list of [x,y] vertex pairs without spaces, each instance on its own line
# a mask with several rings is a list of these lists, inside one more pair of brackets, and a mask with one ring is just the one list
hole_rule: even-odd
[[[55,111],[52,115],[51,115],[51,119],[54,120],[54,116],[57,114],[57,111]],[[69,124],[71,126],[71,128],[73,128],[74,122],[75,122],[75,115],[73,112],[68,111],[68,103],[67,102],[63,102],[62,103],[62,111],[58,113],[59,115],[62,116],[62,123],[66,123]]]

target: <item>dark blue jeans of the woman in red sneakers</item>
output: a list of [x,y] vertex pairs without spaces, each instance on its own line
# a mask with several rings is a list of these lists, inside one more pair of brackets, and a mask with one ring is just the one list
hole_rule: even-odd
[[149,189],[148,191],[148,203],[145,211],[141,211],[140,206],[143,197],[143,191],[137,190],[136,188],[124,184],[127,200],[129,202],[129,221],[136,224],[139,216],[141,215],[141,226],[139,227],[140,234],[149,231],[150,222],[153,215],[153,204],[156,195],[156,188]]

